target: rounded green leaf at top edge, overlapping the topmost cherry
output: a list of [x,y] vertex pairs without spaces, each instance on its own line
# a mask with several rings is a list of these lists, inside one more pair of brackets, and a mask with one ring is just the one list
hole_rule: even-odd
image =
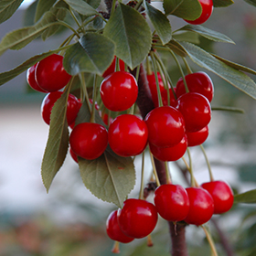
[[197,0],[164,0],[165,15],[178,16],[187,20],[195,20],[202,13]]

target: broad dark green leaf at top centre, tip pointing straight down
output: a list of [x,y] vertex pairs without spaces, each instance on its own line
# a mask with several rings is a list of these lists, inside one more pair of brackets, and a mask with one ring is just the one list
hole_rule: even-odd
[[106,24],[103,35],[115,43],[115,54],[134,69],[151,48],[151,30],[139,12],[119,4]]

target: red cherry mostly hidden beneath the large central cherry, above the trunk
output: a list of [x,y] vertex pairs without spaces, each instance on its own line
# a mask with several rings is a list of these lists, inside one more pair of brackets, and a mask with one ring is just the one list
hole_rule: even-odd
[[149,144],[149,149],[152,155],[160,161],[176,161],[185,155],[187,151],[187,135],[185,134],[182,140],[170,147],[158,147],[154,144]]

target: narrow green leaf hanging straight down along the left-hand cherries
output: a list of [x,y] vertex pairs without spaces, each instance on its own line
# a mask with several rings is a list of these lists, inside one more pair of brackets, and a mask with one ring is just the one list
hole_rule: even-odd
[[69,148],[69,129],[66,120],[68,97],[69,90],[64,91],[54,104],[50,115],[48,143],[41,165],[41,175],[47,191],[63,165]]

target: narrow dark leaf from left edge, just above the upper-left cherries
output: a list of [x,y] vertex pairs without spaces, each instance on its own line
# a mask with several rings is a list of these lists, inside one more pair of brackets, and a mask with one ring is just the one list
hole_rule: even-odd
[[[71,47],[71,45],[70,45],[70,47]],[[30,67],[32,67],[34,64],[36,64],[41,59],[45,59],[49,55],[56,53],[56,52],[59,52],[59,49],[50,50],[48,52],[45,52],[45,53],[42,53],[39,55],[35,55],[34,57],[27,59],[21,65],[17,66],[15,69],[11,69],[9,71],[0,73],[0,85],[3,85],[3,84],[5,84],[5,82],[16,78],[16,76],[18,76],[22,72],[24,72],[27,69],[29,69]]]

